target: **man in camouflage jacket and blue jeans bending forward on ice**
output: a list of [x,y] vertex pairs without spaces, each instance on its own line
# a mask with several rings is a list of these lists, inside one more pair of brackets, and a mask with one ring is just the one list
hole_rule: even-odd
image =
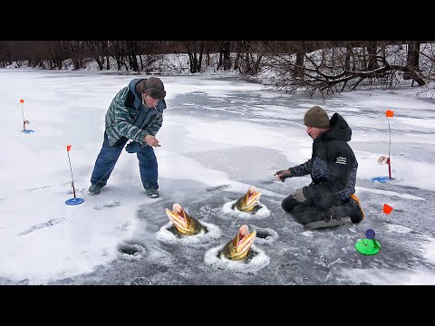
[[98,195],[106,186],[111,171],[125,148],[137,153],[140,179],[148,197],[160,196],[158,164],[154,147],[160,147],[155,135],[163,122],[166,109],[165,87],[159,78],[134,79],[119,91],[105,116],[104,141],[92,171],[89,194]]

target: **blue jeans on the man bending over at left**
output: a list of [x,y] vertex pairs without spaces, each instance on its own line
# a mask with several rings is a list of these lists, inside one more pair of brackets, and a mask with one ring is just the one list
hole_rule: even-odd
[[[115,168],[115,164],[118,158],[120,158],[121,151],[128,140],[129,139],[124,137],[111,146],[107,134],[104,131],[102,149],[100,150],[100,154],[98,154],[92,171],[92,185],[106,186],[107,180],[111,177],[111,171]],[[159,189],[159,183],[157,182],[157,178],[159,177],[158,164],[154,149],[150,146],[144,146],[136,155],[139,159],[140,179],[142,180],[143,187],[145,189],[149,187]]]

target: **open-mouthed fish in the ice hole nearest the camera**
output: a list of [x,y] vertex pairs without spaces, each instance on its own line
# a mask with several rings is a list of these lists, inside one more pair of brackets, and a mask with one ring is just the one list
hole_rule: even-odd
[[256,231],[249,233],[249,227],[242,225],[238,229],[237,235],[221,251],[221,255],[227,259],[244,260],[251,249],[251,245],[256,239]]

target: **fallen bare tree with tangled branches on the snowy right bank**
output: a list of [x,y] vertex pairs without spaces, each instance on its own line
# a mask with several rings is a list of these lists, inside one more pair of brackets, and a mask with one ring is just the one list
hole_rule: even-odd
[[[424,78],[414,57],[411,66],[389,62],[386,44],[388,42],[375,41],[294,43],[293,50],[271,55],[266,68],[276,72],[275,87],[285,91],[304,90],[310,95],[316,91],[323,96],[331,95],[336,91],[355,90],[362,85],[373,86],[381,82],[385,87],[394,87],[404,72],[423,85]],[[323,48],[319,49],[319,46]],[[317,50],[309,52],[313,49]],[[304,53],[303,67],[301,53]]]

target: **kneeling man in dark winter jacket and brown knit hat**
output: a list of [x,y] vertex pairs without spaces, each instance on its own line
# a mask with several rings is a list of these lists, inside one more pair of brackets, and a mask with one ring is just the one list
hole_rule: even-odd
[[287,177],[310,174],[313,182],[285,197],[281,207],[307,229],[360,223],[364,214],[354,195],[358,162],[347,143],[351,140],[351,128],[338,113],[329,120],[319,106],[306,111],[304,125],[314,140],[311,159],[277,171],[275,176],[285,182]]

